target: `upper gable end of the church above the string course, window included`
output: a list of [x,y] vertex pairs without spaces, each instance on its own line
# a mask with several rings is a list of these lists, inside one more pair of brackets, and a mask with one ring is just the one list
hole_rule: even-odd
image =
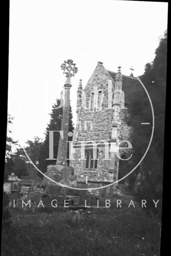
[[78,111],[77,141],[110,139],[112,109],[108,109],[108,77],[107,70],[98,62],[84,88],[86,109]]

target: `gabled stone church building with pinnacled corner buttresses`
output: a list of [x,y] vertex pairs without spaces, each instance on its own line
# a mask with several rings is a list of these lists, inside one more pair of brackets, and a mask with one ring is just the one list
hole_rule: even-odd
[[[121,74],[120,66],[117,72],[106,70],[102,62],[97,62],[84,89],[80,80],[70,160],[78,187],[83,187],[86,179],[90,187],[99,187],[122,178],[121,166],[125,159],[131,159],[132,149],[127,142],[131,142],[131,127],[127,117],[137,90],[143,88],[132,73]],[[117,154],[116,145],[120,147]]]

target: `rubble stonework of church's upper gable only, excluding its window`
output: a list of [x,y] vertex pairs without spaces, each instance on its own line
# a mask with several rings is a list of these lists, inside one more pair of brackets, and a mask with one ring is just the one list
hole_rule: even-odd
[[[89,106],[91,92],[94,91],[94,86],[97,86],[97,90],[102,90],[103,101],[102,109],[90,112],[89,109],[81,108],[79,118],[81,121],[81,129],[78,130],[77,141],[81,140],[107,140],[111,138],[111,121],[112,121],[112,109],[107,109],[108,106],[108,84],[107,77],[103,73],[100,66],[95,69],[92,78],[85,86],[86,94],[86,106]],[[90,130],[90,123],[93,124],[93,129]],[[85,122],[87,122],[87,130],[85,128]]]

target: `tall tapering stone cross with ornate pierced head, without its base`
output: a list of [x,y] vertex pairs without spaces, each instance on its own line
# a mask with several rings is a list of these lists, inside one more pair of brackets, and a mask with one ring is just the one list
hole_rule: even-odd
[[60,136],[58,144],[58,156],[56,165],[66,165],[67,152],[68,152],[68,130],[69,130],[69,120],[70,120],[70,88],[71,80],[70,78],[77,73],[78,68],[76,64],[73,63],[73,60],[64,61],[61,65],[61,69],[64,70],[67,80],[64,84],[64,106],[62,110],[62,121],[61,121],[61,131],[63,131],[63,138]]

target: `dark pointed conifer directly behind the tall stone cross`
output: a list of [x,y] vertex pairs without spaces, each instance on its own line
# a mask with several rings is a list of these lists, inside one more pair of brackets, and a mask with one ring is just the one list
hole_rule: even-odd
[[[41,145],[40,149],[40,157],[39,157],[39,169],[42,172],[46,172],[47,166],[50,164],[56,164],[56,160],[46,160],[49,158],[49,132],[48,131],[59,131],[61,128],[61,120],[62,120],[62,109],[57,108],[60,105],[60,99],[56,99],[56,103],[52,106],[52,112],[50,113],[50,122],[46,128],[46,137],[44,142]],[[74,130],[72,123],[72,110],[70,106],[70,114],[69,114],[69,132]],[[54,158],[57,158],[58,154],[58,142],[59,142],[59,132],[54,132]],[[71,137],[68,137],[68,140],[72,140]]]

